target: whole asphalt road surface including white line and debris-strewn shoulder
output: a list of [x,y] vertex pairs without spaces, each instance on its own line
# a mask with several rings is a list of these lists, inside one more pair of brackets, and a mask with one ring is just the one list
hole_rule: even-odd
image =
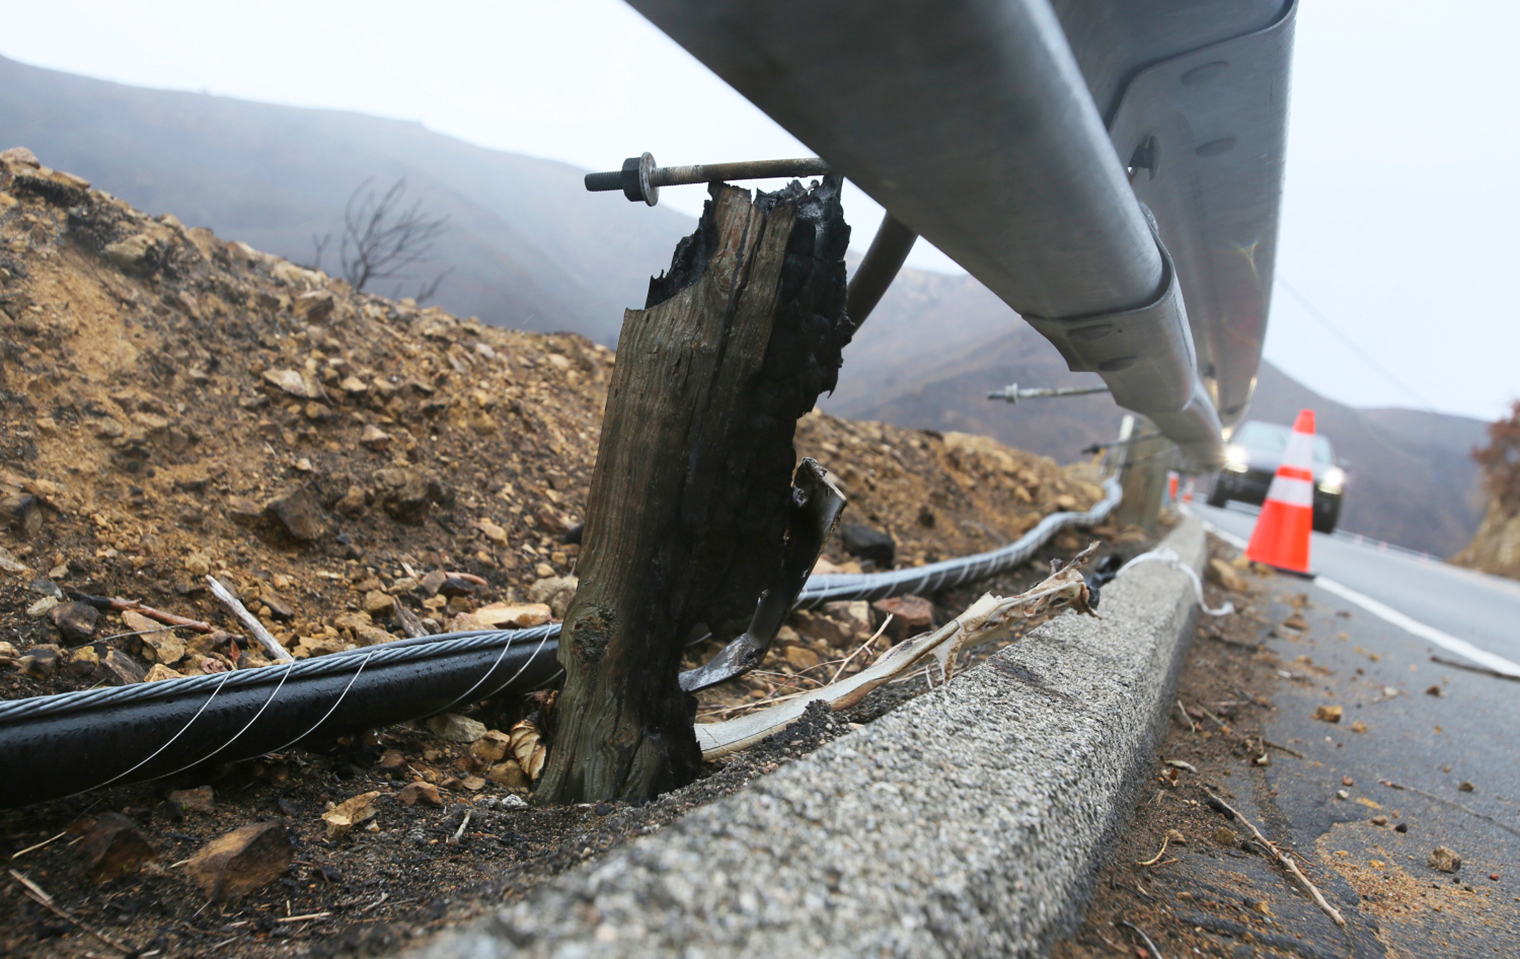
[[[1236,536],[1251,533],[1248,512],[1195,509]],[[1515,584],[1321,535],[1312,550],[1322,576],[1520,660]],[[1269,582],[1256,614],[1284,669],[1263,734],[1301,758],[1274,755],[1240,798],[1315,863],[1350,919],[1341,930],[1303,918],[1307,935],[1289,951],[1520,956],[1520,682],[1432,663],[1432,654],[1459,657],[1322,581]],[[1284,626],[1294,612],[1307,629]],[[1316,717],[1321,705],[1342,707],[1341,722]],[[1438,845],[1462,856],[1458,872],[1430,865]]]

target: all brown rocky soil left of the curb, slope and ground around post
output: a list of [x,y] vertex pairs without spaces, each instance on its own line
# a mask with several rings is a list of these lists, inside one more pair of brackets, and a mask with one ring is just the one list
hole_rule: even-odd
[[[3,698],[268,663],[207,576],[296,658],[409,626],[544,622],[573,596],[570,533],[616,362],[579,336],[356,293],[6,150],[0,353]],[[1100,495],[1084,467],[816,412],[798,451],[850,495],[825,561],[845,570],[991,549]],[[1052,555],[1084,543],[1062,536]],[[796,614],[772,663],[704,693],[704,719],[856,672],[968,599]],[[166,617],[205,628],[161,629]],[[882,693],[848,719],[904,695]],[[0,951],[388,948],[848,730],[813,717],[640,809],[540,810],[523,801],[518,755],[532,754],[505,733],[538,705],[477,704],[0,813],[17,871],[0,881],[14,916]]]

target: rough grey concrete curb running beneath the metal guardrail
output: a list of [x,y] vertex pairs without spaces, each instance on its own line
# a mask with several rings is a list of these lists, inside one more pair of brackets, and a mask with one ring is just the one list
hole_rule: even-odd
[[[1166,546],[1195,568],[1204,532]],[[1079,918],[1195,623],[1140,564],[865,730],[568,872],[429,957],[1031,956]]]

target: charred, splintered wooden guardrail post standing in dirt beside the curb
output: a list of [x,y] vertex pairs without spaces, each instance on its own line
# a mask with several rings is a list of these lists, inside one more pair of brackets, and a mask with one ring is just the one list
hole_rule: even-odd
[[796,419],[853,333],[839,188],[714,185],[623,318],[540,801],[643,799],[696,775],[681,650],[737,635],[777,579]]

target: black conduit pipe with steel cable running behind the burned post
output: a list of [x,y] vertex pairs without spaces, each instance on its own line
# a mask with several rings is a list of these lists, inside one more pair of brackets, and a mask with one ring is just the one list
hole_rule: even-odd
[[[886,573],[812,576],[800,608],[932,594],[1018,567],[1067,526],[1100,523],[1116,479],[1087,512],[1056,512],[986,553]],[[397,640],[290,664],[0,702],[0,809],[140,783],[433,716],[559,676],[559,625]]]

